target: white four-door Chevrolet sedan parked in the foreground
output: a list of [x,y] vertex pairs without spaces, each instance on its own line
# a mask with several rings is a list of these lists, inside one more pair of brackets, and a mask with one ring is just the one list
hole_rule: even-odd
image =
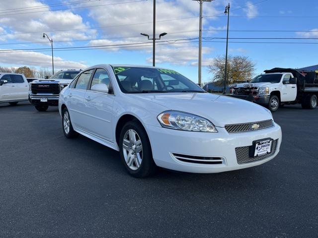
[[66,137],[79,133],[119,151],[134,177],[157,166],[191,173],[257,166],[282,140],[269,110],[156,67],[86,68],[61,92],[59,111]]

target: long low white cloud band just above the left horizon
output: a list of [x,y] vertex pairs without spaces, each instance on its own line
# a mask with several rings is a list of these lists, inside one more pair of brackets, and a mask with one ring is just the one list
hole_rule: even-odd
[[[0,49],[7,50],[7,49]],[[15,53],[1,53],[1,63],[8,63],[11,65],[26,65],[36,67],[51,67],[52,57],[44,55],[39,52],[15,52]],[[60,57],[54,57],[54,67],[56,68],[85,68],[86,65],[83,62],[75,62],[70,60],[64,60]]]

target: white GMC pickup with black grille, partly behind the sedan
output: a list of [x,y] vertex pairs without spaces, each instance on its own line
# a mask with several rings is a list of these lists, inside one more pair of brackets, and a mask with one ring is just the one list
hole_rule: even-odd
[[60,92],[69,86],[80,71],[76,69],[61,70],[48,79],[30,82],[29,102],[40,112],[48,110],[49,106],[58,106]]

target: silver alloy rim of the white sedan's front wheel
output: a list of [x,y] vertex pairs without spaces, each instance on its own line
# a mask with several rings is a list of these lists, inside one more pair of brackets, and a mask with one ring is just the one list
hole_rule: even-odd
[[138,170],[143,159],[143,145],[138,133],[129,129],[126,131],[123,140],[123,154],[125,162],[132,170]]

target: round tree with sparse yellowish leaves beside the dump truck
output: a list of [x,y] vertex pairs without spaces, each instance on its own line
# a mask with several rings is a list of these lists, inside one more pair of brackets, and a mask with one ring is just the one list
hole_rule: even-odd
[[[213,74],[212,80],[217,85],[223,85],[225,79],[225,56],[216,57],[208,66]],[[228,56],[227,85],[234,82],[250,80],[255,71],[255,63],[245,56]]]

